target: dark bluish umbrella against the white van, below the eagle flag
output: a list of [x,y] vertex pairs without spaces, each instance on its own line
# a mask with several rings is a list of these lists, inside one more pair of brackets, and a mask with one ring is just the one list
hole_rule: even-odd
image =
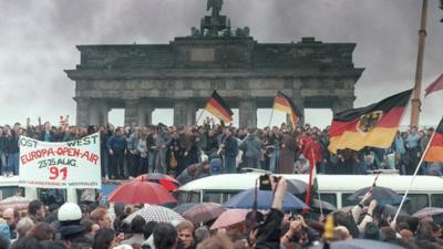
[[[364,196],[364,194],[367,194],[370,188],[371,187],[365,187],[357,190],[350,197],[348,197],[348,200],[359,201],[361,199],[361,196]],[[394,190],[379,186],[372,187],[371,198],[375,199],[379,205],[398,205],[402,200],[402,196],[396,194]]]

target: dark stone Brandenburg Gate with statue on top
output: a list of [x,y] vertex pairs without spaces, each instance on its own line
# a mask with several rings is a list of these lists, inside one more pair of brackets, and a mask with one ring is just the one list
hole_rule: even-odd
[[259,43],[249,28],[231,29],[223,0],[208,0],[210,15],[190,35],[168,44],[78,45],[80,64],[65,70],[75,81],[76,124],[104,125],[124,108],[125,125],[152,123],[155,108],[174,108],[175,125],[193,125],[214,90],[238,108],[239,126],[257,125],[257,108],[271,108],[278,90],[300,110],[353,106],[356,43],[301,38]]

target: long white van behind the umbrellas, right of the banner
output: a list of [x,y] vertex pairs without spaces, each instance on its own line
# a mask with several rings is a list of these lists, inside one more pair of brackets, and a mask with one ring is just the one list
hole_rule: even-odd
[[[223,204],[231,195],[253,188],[261,174],[225,174],[193,180],[176,193],[178,204],[214,201]],[[309,175],[281,175],[286,179],[308,183]],[[321,200],[337,208],[354,205],[348,197],[356,190],[372,185],[375,175],[317,175]],[[404,194],[412,176],[380,175],[378,186]],[[443,178],[439,176],[416,176],[408,195],[404,210],[413,214],[424,207],[443,207]]]

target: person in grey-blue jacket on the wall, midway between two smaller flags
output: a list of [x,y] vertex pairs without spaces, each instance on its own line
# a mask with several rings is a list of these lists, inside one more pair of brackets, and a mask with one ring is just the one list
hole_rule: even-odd
[[255,128],[248,128],[248,136],[240,145],[248,168],[261,168],[261,141],[255,132]]

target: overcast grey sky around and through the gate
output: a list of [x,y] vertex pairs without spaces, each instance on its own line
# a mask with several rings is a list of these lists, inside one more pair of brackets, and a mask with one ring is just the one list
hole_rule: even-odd
[[[250,28],[260,43],[356,42],[353,61],[365,68],[356,85],[354,106],[413,87],[421,0],[225,0],[222,13],[233,27]],[[429,1],[423,89],[443,73],[443,11]],[[63,70],[80,63],[78,44],[168,43],[198,27],[206,0],[0,0],[0,124],[75,121],[74,82]],[[443,92],[423,101],[421,124],[443,116]],[[235,111],[236,113],[236,111]],[[238,114],[236,114],[237,116]],[[154,123],[172,124],[172,111],[156,111]],[[235,118],[236,118],[235,116]],[[258,125],[270,110],[258,112]],[[326,126],[328,110],[307,110],[306,121]],[[238,118],[237,118],[238,120]],[[123,111],[110,121],[123,123]],[[271,124],[284,121],[276,113]],[[403,124],[409,123],[409,115]]]

